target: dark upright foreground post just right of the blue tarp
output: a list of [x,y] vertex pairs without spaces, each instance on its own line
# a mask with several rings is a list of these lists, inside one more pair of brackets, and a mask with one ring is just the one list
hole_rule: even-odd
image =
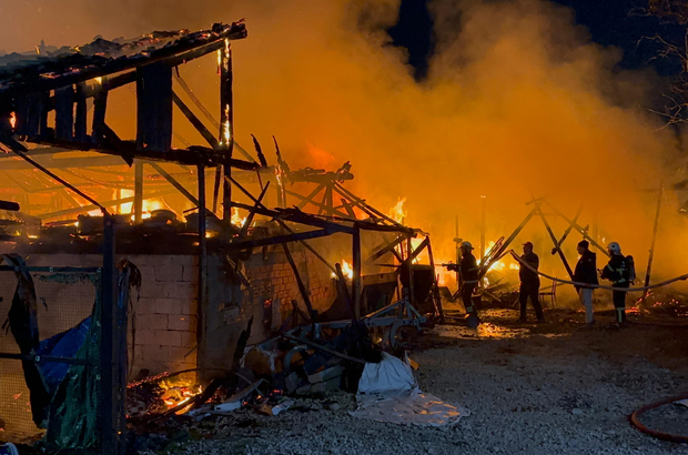
[[114,383],[115,363],[114,337],[115,324],[115,283],[117,269],[114,267],[114,221],[104,214],[103,229],[103,270],[101,281],[101,332],[100,332],[100,443],[101,454],[115,455],[118,448],[117,435],[117,400],[118,384]]

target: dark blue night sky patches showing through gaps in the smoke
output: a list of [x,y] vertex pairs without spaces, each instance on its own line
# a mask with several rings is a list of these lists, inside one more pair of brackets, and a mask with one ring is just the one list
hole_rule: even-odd
[[[652,59],[657,48],[643,37],[660,33],[664,37],[682,39],[680,28],[662,24],[656,18],[634,13],[647,4],[644,0],[553,0],[576,12],[576,22],[590,32],[593,40],[604,46],[624,50],[621,69],[654,67],[660,74],[670,75],[679,69],[676,62]],[[388,30],[394,46],[408,49],[409,63],[415,68],[416,79],[427,72],[427,59],[433,52],[433,19],[426,0],[402,0],[399,21]]]

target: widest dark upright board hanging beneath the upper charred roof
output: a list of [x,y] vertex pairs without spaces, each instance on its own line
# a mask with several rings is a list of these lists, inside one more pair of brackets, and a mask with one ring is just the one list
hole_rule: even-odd
[[160,62],[136,69],[136,149],[172,146],[172,68]]

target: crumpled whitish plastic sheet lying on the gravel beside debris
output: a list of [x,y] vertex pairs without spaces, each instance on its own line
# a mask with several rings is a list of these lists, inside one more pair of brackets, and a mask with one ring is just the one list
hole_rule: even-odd
[[452,425],[468,415],[435,395],[421,391],[407,363],[383,353],[380,363],[367,363],[358,382],[354,417],[423,426]]

